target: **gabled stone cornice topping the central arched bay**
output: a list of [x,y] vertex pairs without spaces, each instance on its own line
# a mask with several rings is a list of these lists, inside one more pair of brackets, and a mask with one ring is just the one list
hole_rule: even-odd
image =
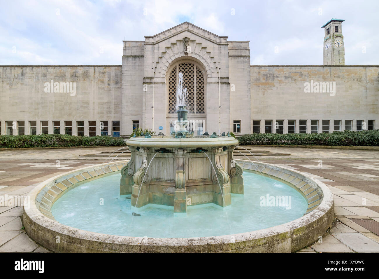
[[166,39],[169,39],[173,36],[179,35],[183,32],[190,32],[194,35],[197,35],[201,38],[204,38],[208,41],[211,41],[215,44],[227,44],[228,37],[227,36],[218,36],[216,34],[213,34],[203,28],[200,28],[192,23],[189,22],[183,22],[182,24],[176,25],[175,27],[172,27],[168,30],[165,30],[161,33],[158,33],[154,36],[145,36],[145,43],[146,44],[157,44],[161,41],[164,41]]

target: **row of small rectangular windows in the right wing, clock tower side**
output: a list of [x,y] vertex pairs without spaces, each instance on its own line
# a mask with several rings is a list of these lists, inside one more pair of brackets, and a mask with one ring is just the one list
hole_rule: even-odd
[[[299,133],[307,133],[307,121],[299,120]],[[277,134],[283,134],[284,120],[277,120],[274,123],[272,120],[265,120],[265,133],[272,133],[276,129]],[[239,125],[240,126],[240,125]],[[287,121],[288,134],[294,134],[296,131],[296,120]],[[343,129],[344,128],[344,129]],[[352,131],[353,120],[345,120],[345,127],[342,127],[341,120],[333,120],[333,131]],[[365,124],[364,120],[357,120],[357,131],[373,130],[375,128],[375,120],[368,120]],[[239,131],[238,131],[239,132]],[[259,134],[261,132],[261,120],[253,120],[253,132]],[[310,120],[310,133],[329,133],[330,120],[322,120],[322,131],[319,131],[319,120]]]

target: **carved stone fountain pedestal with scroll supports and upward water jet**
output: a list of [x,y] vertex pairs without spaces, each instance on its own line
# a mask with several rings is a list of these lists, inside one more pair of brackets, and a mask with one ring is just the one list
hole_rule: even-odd
[[187,205],[231,204],[231,193],[243,194],[242,168],[233,159],[234,137],[193,137],[188,131],[179,73],[175,131],[171,136],[131,137],[126,141],[131,159],[121,169],[120,195],[131,194],[137,208],[154,203],[174,206],[185,213]]

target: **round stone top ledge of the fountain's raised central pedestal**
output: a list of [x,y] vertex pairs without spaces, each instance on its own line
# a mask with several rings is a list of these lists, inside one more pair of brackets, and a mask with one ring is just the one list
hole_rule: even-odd
[[187,139],[174,139],[171,136],[153,136],[151,139],[145,139],[144,137],[131,137],[126,141],[126,144],[139,147],[197,148],[238,145],[238,140],[234,137],[194,137]]

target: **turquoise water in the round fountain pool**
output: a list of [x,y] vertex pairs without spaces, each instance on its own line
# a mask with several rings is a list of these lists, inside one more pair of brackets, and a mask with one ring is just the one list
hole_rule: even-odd
[[[119,195],[117,173],[70,190],[54,203],[52,213],[61,224],[91,232],[185,238],[265,229],[297,219],[307,210],[304,197],[290,186],[249,172],[243,177],[244,195],[232,194],[232,205],[226,208],[212,203],[188,206],[180,216],[174,216],[171,206],[132,208],[126,198],[130,195]],[[265,203],[267,197],[271,204]],[[276,197],[284,197],[284,202],[276,202]]]

